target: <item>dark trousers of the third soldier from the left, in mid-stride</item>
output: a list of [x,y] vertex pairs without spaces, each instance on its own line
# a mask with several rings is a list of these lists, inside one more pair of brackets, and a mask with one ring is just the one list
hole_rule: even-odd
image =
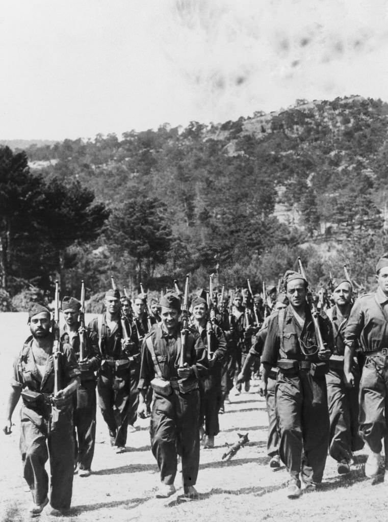
[[97,380],[98,405],[108,425],[112,446],[125,446],[130,414],[131,374],[129,368],[101,370]]

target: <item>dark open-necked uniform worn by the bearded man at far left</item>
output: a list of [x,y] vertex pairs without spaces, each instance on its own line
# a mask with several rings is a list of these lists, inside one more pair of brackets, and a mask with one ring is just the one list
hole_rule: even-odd
[[[51,499],[53,508],[70,507],[73,489],[73,401],[60,410],[51,406],[54,390],[53,356],[46,361],[43,375],[39,372],[32,352],[32,336],[29,337],[14,363],[11,385],[21,389],[20,452],[23,473],[32,492],[34,503],[42,504],[48,495],[49,477],[44,469],[50,458]],[[60,382],[62,388],[77,377],[77,361],[69,345],[62,347],[60,357]]]

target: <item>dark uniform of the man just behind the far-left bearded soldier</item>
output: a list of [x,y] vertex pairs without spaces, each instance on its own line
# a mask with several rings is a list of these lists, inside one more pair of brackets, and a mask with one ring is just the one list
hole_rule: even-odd
[[[78,330],[79,324],[77,323],[75,327]],[[69,336],[69,344],[73,348],[78,362],[80,346],[78,331],[69,331],[65,324],[61,332],[61,339],[65,334]],[[88,361],[88,368],[80,369],[81,384],[74,394],[75,465],[78,465],[80,470],[90,470],[95,452],[97,409],[95,372],[99,370],[101,362],[98,343],[92,343],[88,335],[85,335],[85,340],[84,360]]]

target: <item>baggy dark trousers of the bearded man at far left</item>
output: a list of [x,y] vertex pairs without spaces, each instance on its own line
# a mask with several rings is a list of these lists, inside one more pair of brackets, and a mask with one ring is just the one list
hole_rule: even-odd
[[49,477],[44,466],[50,458],[50,504],[54,509],[68,509],[74,476],[73,408],[70,405],[61,410],[55,422],[49,418],[49,415],[43,418],[25,406],[21,408],[23,474],[34,503],[42,504],[49,491]]

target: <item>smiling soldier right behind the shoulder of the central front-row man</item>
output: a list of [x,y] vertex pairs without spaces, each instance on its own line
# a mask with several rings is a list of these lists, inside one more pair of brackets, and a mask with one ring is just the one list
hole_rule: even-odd
[[[201,415],[199,425],[205,424],[204,448],[214,447],[214,437],[219,433],[218,410],[222,402],[221,393],[221,361],[226,353],[226,339],[217,325],[211,325],[207,315],[206,300],[197,297],[191,304],[193,328],[201,336],[208,350],[208,375],[199,381],[201,395]],[[210,342],[210,348],[208,346]],[[209,357],[211,352],[211,357]]]

